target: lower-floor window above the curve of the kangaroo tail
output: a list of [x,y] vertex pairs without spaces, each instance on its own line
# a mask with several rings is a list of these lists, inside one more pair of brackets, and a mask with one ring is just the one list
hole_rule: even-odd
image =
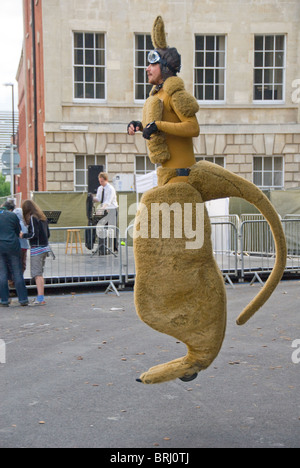
[[261,189],[283,188],[283,158],[254,157],[253,182]]

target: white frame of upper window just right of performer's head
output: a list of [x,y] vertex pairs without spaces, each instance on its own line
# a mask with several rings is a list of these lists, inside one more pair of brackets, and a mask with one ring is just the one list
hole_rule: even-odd
[[[216,54],[217,52],[221,52],[223,50],[221,49],[217,49],[216,48],[216,39],[219,37],[219,38],[224,38],[224,65],[223,66],[213,66],[213,67],[206,67],[206,63],[205,63],[205,60],[204,59],[204,62],[203,62],[203,67],[200,67],[200,66],[196,66],[196,53],[197,52],[201,52],[202,50],[200,49],[196,49],[196,39],[197,37],[203,37],[204,38],[204,49],[203,49],[203,54],[204,54],[204,57],[207,53],[207,51],[211,50],[211,49],[207,49],[206,48],[206,43],[207,43],[207,38],[208,37],[214,37],[214,49],[213,49],[213,52],[214,52],[214,62],[216,62]],[[205,72],[206,74],[206,71],[207,70],[213,70],[213,74],[214,74],[214,79],[213,79],[213,83],[212,83],[212,86],[213,86],[213,92],[214,92],[214,99],[198,99],[197,98],[197,93],[196,93],[196,86],[199,86],[201,85],[201,83],[196,83],[196,70],[201,70],[203,69],[203,71]],[[223,83],[220,83],[220,82],[216,82],[216,70],[223,70],[223,73],[224,73],[224,82]],[[226,103],[226,82],[227,82],[227,34],[195,34],[194,35],[194,64],[193,64],[193,89],[194,89],[194,96],[196,97],[197,101],[198,102],[201,102],[201,104],[210,104],[210,105],[220,105],[220,104],[225,104]],[[204,78],[204,74],[203,74],[203,78]],[[203,80],[203,88],[204,88],[204,91],[205,91],[205,86],[207,85],[208,83],[205,83],[205,81]],[[224,87],[224,98],[223,99],[216,99],[215,98],[215,89],[216,89],[216,86],[220,86],[222,85]],[[204,94],[204,97],[205,94]]]

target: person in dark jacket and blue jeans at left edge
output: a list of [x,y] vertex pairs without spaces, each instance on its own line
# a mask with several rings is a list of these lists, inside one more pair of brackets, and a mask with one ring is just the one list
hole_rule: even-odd
[[9,306],[9,274],[12,274],[19,302],[28,305],[28,294],[23,276],[18,217],[12,213],[15,205],[7,201],[0,208],[0,297],[1,307]]

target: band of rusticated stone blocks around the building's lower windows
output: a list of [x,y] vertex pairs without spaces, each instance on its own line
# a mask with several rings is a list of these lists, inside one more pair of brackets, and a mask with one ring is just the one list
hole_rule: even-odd
[[[74,155],[106,154],[111,177],[133,173],[135,156],[146,154],[141,136],[122,133],[47,133],[47,187],[74,190]],[[196,157],[223,156],[226,169],[252,181],[253,156],[283,156],[285,188],[300,186],[299,134],[219,134],[194,139]]]

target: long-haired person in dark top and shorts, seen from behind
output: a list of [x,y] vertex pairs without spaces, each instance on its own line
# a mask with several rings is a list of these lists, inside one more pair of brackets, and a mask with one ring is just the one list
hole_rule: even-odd
[[25,200],[22,209],[28,233],[22,233],[21,237],[28,239],[30,243],[31,276],[35,279],[37,287],[34,305],[45,305],[43,273],[46,258],[51,251],[48,243],[50,237],[48,221],[38,205],[31,200]]

